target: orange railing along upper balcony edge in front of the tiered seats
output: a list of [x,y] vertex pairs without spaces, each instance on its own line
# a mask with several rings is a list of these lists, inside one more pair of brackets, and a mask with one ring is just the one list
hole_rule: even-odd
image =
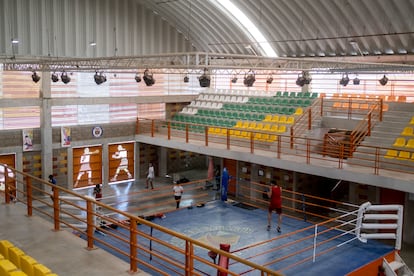
[[[318,165],[324,164],[332,167],[332,163],[337,163],[337,167],[343,169],[344,162],[352,165],[359,165],[372,169],[374,174],[380,171],[398,171],[404,173],[414,172],[414,151],[404,149],[410,158],[389,157],[386,155],[389,147],[360,146],[361,141],[368,135],[372,127],[380,120],[380,110],[372,107],[368,113],[360,114],[361,122],[351,131],[352,139],[341,144],[331,144],[324,147],[323,138],[311,138],[305,136],[291,136],[289,133],[271,133],[259,130],[240,130],[237,128],[220,127],[220,132],[211,132],[209,126],[198,125],[189,122],[175,122],[163,120],[137,119],[139,126],[136,130],[138,135],[150,135],[151,137],[165,138],[167,140],[182,141],[185,143],[202,143],[207,147],[219,147],[231,150],[235,147],[245,147],[251,153],[258,155],[271,155],[278,159],[284,156],[294,155],[298,162]],[[355,116],[355,114],[353,115]],[[177,124],[181,126],[177,126]],[[194,131],[198,129],[198,131]],[[244,136],[235,135],[236,131],[245,132]],[[259,137],[271,137],[271,139],[260,139]],[[292,146],[293,142],[293,146]],[[348,151],[349,152],[346,152]],[[357,151],[359,154],[351,153]],[[329,153],[335,152],[336,158],[331,158]],[[321,164],[321,160],[326,161]]]

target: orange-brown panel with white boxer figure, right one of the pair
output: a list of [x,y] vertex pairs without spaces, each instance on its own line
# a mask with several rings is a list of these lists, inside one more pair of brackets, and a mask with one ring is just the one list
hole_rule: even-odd
[[109,145],[108,152],[110,182],[133,179],[134,143]]

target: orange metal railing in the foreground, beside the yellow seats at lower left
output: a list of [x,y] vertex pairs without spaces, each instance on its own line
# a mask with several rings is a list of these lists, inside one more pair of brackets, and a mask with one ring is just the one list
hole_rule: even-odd
[[[0,166],[4,165],[0,164]],[[212,275],[217,271],[228,275],[239,275],[238,271],[232,271],[231,268],[213,263],[207,254],[212,251],[228,257],[232,262],[237,262],[238,269],[242,267],[242,270],[253,270],[260,275],[281,275],[274,270],[152,223],[145,218],[95,201],[89,196],[80,195],[60,186],[53,186],[53,192],[50,193],[47,191],[50,191],[52,186],[47,181],[10,167],[5,167],[4,171],[10,172],[5,175],[4,181],[6,191],[4,200],[6,203],[17,199],[18,202],[27,206],[28,216],[35,213],[47,220],[52,220],[54,230],[67,228],[78,233],[85,239],[88,249],[92,249],[94,244],[98,243],[100,246],[105,246],[112,252],[128,258],[131,272],[136,272],[138,265],[141,265],[157,275],[169,274],[165,272],[166,269],[163,269],[164,266],[168,267],[168,271],[175,271],[177,275]],[[188,185],[204,185],[204,182],[205,180],[194,181]],[[166,187],[166,189],[169,191],[168,197],[171,198],[170,187]],[[103,225],[102,221],[106,223]],[[137,227],[138,224],[140,227]],[[160,240],[150,235],[149,229],[160,231],[170,238]],[[116,246],[101,238],[103,236],[95,234],[96,231],[116,240]],[[148,243],[153,246],[149,247]],[[182,244],[182,246],[178,244]],[[163,253],[163,250],[159,250],[160,248],[173,253]],[[206,254],[196,254],[195,248],[202,248]],[[82,250],[82,248],[79,249]],[[152,262],[148,262],[149,258],[152,259]]]

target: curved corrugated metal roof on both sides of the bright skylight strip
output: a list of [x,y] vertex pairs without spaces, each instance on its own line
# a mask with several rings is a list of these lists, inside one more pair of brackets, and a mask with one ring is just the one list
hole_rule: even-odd
[[[176,26],[197,51],[261,54],[210,0],[137,0]],[[231,0],[279,57],[414,53],[414,0]],[[220,0],[218,0],[220,2]]]

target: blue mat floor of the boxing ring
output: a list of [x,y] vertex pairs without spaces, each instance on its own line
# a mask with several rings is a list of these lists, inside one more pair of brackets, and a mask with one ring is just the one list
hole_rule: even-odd
[[[274,216],[273,221],[275,220],[276,217]],[[283,217],[281,234],[276,232],[275,224],[273,224],[274,227],[271,231],[267,231],[267,210],[239,208],[221,201],[207,203],[201,208],[194,207],[193,209],[180,209],[167,214],[164,219],[155,218],[152,222],[189,236],[193,239],[209,243],[213,246],[219,247],[220,242],[230,243],[230,250],[232,252],[251,244],[269,240],[273,237],[296,231],[298,229],[303,229],[311,225],[303,220]],[[144,225],[139,225],[138,229],[158,239],[174,244],[177,247],[183,249],[185,248],[183,241],[163,232],[151,230],[149,227]],[[320,227],[319,231],[322,230],[323,228]],[[128,231],[124,229],[118,228],[110,231],[113,231],[117,235],[122,235],[125,238],[129,238]],[[349,234],[336,238],[334,241],[327,241],[326,243],[318,246],[316,248],[316,254],[327,249],[330,250],[333,246],[338,246],[341,243],[344,243],[326,254],[317,256],[315,262],[312,261],[313,238],[307,239],[301,243],[296,243],[294,246],[286,246],[290,242],[294,242],[295,240],[304,238],[308,235],[312,236],[313,234],[314,229],[311,228],[310,230],[302,232],[299,236],[294,235],[283,239],[277,239],[260,247],[249,248],[236,252],[235,254],[241,258],[248,259],[249,261],[260,265],[269,264],[266,265],[268,268],[272,270],[282,270],[281,272],[285,275],[345,275],[393,251],[393,247],[373,240],[369,240],[368,243],[362,243],[356,239],[349,241],[355,237]],[[332,236],[339,234],[341,234],[339,231],[330,231],[326,234],[318,236],[317,242],[322,242],[324,240],[326,241]],[[129,248],[125,244],[119,243],[114,238],[110,237],[110,235],[97,235],[97,238],[116,246],[119,250],[129,252]],[[146,248],[151,247],[151,250],[156,252],[163,252],[168,256],[174,256],[172,258],[177,258],[177,262],[184,262],[183,256],[179,255],[175,257],[177,254],[171,251],[171,249],[159,244],[150,243],[148,239],[140,237],[138,239],[138,243],[140,246],[144,246]],[[105,245],[100,244],[99,242],[97,242],[96,245],[110,251],[114,255],[126,261],[129,261],[122,254],[112,252],[113,250],[108,249]],[[310,249],[304,251],[303,253],[297,254],[294,257],[286,258],[280,262],[271,264],[274,260],[294,252],[299,252],[305,247],[309,247]],[[274,250],[275,248],[277,248],[277,250]],[[263,252],[267,253],[263,254]],[[195,248],[195,254],[203,258],[207,256],[206,250],[198,247]],[[169,269],[168,264],[145,252],[138,252],[138,258],[146,262],[150,262],[154,266],[162,268],[170,275],[181,275],[173,269]],[[294,265],[305,258],[310,258],[310,260],[299,265]],[[196,262],[195,267],[205,275],[214,275],[216,273],[216,271],[212,270],[211,267],[200,262]],[[146,267],[139,266],[139,268],[148,273],[153,273],[153,271]],[[246,271],[246,267],[241,264],[232,264],[231,262],[230,269],[238,273]],[[249,272],[247,275],[256,274],[258,274],[258,272]]]

